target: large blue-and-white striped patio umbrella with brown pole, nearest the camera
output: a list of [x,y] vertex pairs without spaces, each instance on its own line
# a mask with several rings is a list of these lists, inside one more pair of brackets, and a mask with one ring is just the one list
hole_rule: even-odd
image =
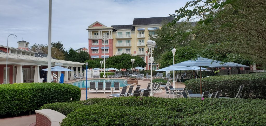
[[201,67],[202,66],[228,66],[228,65],[221,61],[200,57],[200,58],[196,58],[195,60],[194,59],[188,60],[188,61],[180,62],[178,64],[174,64],[171,66],[199,66],[200,67],[200,93],[202,93],[201,91],[201,77],[202,77]]

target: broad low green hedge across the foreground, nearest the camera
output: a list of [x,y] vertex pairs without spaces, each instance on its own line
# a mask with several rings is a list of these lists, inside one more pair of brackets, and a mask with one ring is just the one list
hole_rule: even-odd
[[[260,99],[120,97],[66,104],[73,111],[61,125],[265,125],[266,101]],[[56,111],[66,105],[56,104]],[[45,108],[45,107],[42,107]]]

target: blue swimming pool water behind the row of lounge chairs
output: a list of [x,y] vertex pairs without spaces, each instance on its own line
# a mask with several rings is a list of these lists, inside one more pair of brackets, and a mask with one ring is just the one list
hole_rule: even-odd
[[[105,80],[105,79],[96,79],[96,80],[88,80],[88,88],[90,87],[90,82],[95,82],[96,83],[96,87],[98,87],[98,83],[97,82],[103,82],[103,84],[105,85],[105,82],[111,81],[111,87],[114,87],[114,82],[120,82],[120,87],[123,86],[128,86],[127,81],[123,80],[123,79],[110,79],[110,80]],[[125,82],[124,82],[125,81]],[[74,85],[74,86],[78,86],[79,88],[86,88],[86,80],[81,80],[81,81],[77,81],[74,83],[69,83],[70,85]]]

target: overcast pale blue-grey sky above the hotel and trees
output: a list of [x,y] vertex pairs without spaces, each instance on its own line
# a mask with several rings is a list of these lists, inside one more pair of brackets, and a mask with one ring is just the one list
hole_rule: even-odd
[[[65,49],[88,48],[86,28],[95,21],[132,24],[134,18],[174,14],[188,0],[52,0],[52,41]],[[0,0],[0,45],[17,48],[17,41],[48,44],[48,0]]]

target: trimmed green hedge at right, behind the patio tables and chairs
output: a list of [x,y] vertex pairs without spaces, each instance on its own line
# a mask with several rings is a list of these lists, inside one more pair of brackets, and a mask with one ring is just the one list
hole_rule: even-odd
[[[244,84],[244,98],[266,99],[266,73],[222,75],[202,78],[202,91],[222,90],[222,96],[235,98],[240,85]],[[190,79],[184,82],[187,89],[200,93],[200,79]]]

